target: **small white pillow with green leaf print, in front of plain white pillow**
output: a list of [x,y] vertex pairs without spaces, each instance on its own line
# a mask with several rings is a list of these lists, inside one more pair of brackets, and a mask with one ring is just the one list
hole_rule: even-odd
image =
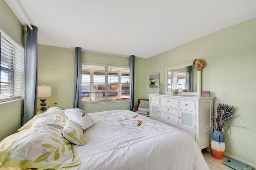
[[63,136],[73,144],[85,145],[84,142],[84,131],[74,121],[67,120],[63,128]]

